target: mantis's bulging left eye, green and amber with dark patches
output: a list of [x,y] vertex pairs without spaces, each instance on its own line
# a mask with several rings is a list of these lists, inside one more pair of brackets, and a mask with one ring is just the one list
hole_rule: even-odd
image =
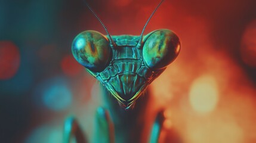
[[103,71],[112,58],[109,40],[93,30],[76,36],[72,43],[72,53],[78,63],[94,72]]

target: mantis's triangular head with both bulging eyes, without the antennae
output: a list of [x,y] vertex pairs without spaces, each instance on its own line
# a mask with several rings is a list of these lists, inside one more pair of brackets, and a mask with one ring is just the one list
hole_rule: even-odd
[[112,38],[92,30],[82,32],[73,40],[72,53],[76,61],[128,109],[175,60],[180,52],[180,40],[167,29],[155,30],[141,42],[138,42],[140,36]]

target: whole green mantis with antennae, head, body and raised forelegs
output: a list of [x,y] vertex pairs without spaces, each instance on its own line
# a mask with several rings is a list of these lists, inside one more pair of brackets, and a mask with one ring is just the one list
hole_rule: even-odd
[[[158,7],[162,2],[163,0]],[[88,4],[87,7],[92,11]],[[135,108],[135,111],[130,108],[134,107],[135,101],[146,92],[147,86],[166,69],[168,64],[175,60],[180,52],[180,40],[174,32],[168,29],[155,30],[143,36],[144,29],[152,15],[147,20],[140,36],[110,36],[100,18],[94,11],[92,13],[103,25],[107,35],[94,30],[79,33],[73,40],[72,53],[78,63],[99,80],[116,100],[106,99],[109,103],[110,116],[105,108],[98,108],[96,120],[98,120],[101,134],[105,134],[103,135],[104,141],[98,142],[113,142],[114,140],[116,142],[140,142],[139,136],[142,133],[140,129],[136,130],[136,127],[140,128],[141,125],[137,126],[140,123],[136,119],[138,116],[143,116],[142,112],[146,109],[141,103],[138,103],[140,108]],[[144,96],[147,95],[144,94]],[[146,104],[147,100],[143,100],[138,101]],[[156,117],[150,142],[158,141],[162,124],[161,117],[161,113]],[[115,135],[112,129],[115,130]],[[64,141],[69,142],[72,135],[76,136],[78,142],[86,140],[81,137],[81,129],[73,117],[67,119],[65,123]]]

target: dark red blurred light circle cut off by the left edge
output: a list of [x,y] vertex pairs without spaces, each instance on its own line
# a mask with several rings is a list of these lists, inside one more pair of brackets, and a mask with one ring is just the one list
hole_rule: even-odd
[[0,80],[13,77],[20,66],[20,52],[11,41],[0,41]]

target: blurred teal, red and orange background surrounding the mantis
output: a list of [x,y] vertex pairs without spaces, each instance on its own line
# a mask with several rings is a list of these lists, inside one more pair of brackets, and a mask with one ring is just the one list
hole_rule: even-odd
[[[159,1],[88,3],[110,35],[140,35]],[[256,1],[166,0],[144,33],[163,28],[181,52],[149,86],[160,142],[256,142]],[[82,0],[0,1],[1,142],[61,142],[72,114],[94,130],[99,83],[70,50],[84,30],[106,34]]]

